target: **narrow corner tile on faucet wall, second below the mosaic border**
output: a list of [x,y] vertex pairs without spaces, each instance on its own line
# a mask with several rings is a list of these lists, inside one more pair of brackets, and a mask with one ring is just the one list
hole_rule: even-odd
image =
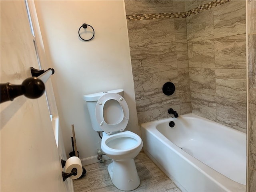
[[178,69],[188,67],[188,44],[176,44]]

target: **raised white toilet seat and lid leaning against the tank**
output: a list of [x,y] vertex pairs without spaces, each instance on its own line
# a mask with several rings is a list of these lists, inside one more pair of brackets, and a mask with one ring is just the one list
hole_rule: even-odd
[[129,108],[122,96],[107,93],[101,96],[95,108],[96,120],[107,134],[124,131],[129,120]]

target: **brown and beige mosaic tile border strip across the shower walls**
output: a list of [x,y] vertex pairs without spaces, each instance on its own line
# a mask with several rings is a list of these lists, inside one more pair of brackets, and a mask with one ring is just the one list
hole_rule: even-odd
[[213,0],[209,3],[201,5],[197,8],[186,12],[177,12],[177,13],[150,13],[150,14],[127,14],[126,19],[132,21],[142,21],[142,20],[155,20],[162,18],[186,18],[195,14],[198,14],[202,11],[209,10],[216,6],[222,5],[224,3],[230,2],[231,0]]

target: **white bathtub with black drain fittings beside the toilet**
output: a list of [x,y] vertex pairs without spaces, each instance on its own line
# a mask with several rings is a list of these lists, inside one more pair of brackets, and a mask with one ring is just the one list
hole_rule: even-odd
[[246,134],[194,114],[144,123],[141,132],[144,152],[182,191],[246,190]]

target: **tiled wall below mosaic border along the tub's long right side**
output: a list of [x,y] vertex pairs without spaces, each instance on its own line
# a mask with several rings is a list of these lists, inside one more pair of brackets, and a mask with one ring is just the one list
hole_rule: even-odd
[[192,113],[246,132],[246,2],[186,18]]

